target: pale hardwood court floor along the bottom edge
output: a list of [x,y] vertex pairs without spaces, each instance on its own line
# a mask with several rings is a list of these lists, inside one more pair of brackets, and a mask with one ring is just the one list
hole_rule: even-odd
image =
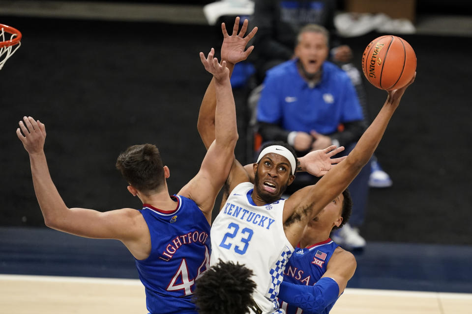
[[[472,294],[347,288],[331,314],[469,314]],[[0,314],[147,313],[136,279],[0,275]]]

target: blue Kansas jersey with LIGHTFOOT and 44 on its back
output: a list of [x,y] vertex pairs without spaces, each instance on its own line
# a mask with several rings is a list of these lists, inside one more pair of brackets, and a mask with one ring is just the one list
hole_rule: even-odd
[[151,253],[136,260],[136,266],[151,314],[197,314],[191,299],[195,280],[209,267],[210,225],[194,201],[173,198],[173,212],[148,204],[140,210],[151,235]]

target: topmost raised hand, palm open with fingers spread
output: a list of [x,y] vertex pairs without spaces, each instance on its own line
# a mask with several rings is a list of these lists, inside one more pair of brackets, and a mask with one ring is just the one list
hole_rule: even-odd
[[244,37],[247,30],[248,20],[244,20],[239,33],[239,17],[236,17],[235,25],[233,26],[233,33],[228,35],[226,26],[224,23],[221,24],[221,31],[223,32],[223,44],[221,45],[221,60],[226,60],[231,63],[237,63],[239,61],[246,60],[249,54],[254,49],[254,46],[249,47],[246,51],[247,43],[254,37],[257,32],[257,27],[254,27],[252,31]]

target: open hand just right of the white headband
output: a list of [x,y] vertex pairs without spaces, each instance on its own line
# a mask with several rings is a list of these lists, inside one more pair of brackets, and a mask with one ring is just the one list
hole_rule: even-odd
[[331,158],[342,151],[344,151],[344,146],[336,148],[336,145],[331,145],[323,150],[312,151],[304,157],[298,158],[301,170],[316,177],[324,176],[335,164],[346,159],[347,156]]

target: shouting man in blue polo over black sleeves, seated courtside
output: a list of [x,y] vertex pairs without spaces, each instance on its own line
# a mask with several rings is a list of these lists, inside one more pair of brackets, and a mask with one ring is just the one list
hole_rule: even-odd
[[[263,140],[287,141],[299,156],[331,144],[346,146],[349,153],[364,130],[362,109],[351,80],[326,61],[328,36],[323,26],[302,27],[296,58],[267,72],[259,100],[257,120]],[[369,174],[365,167],[349,187],[354,199],[354,227],[360,227],[364,220]],[[308,174],[297,176],[287,193],[316,181]],[[365,240],[349,224],[335,240],[350,249],[365,246]]]

